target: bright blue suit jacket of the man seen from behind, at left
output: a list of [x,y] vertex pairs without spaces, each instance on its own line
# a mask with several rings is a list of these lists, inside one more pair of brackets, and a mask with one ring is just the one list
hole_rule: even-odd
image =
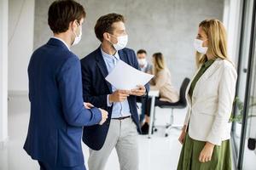
[[97,108],[84,108],[79,58],[55,38],[33,54],[28,66],[31,116],[24,149],[50,165],[84,164],[83,126],[102,119]]

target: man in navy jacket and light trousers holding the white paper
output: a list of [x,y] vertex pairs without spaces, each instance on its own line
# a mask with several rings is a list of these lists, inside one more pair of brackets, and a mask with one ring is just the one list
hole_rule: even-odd
[[[140,132],[137,96],[144,96],[146,87],[138,85],[131,91],[116,89],[105,77],[119,60],[139,70],[137,56],[125,48],[128,36],[121,14],[106,14],[95,26],[101,46],[81,59],[84,101],[108,111],[107,123],[84,127],[83,141],[90,147],[90,170],[103,170],[113,148],[117,150],[121,170],[138,169],[137,136]],[[122,74],[122,72],[120,72]]]

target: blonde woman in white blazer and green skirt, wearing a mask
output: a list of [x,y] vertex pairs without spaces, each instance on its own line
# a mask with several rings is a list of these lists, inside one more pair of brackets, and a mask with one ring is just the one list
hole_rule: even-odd
[[194,45],[200,68],[187,88],[189,110],[179,137],[183,149],[177,169],[229,170],[229,119],[237,74],[227,56],[223,24],[203,20]]

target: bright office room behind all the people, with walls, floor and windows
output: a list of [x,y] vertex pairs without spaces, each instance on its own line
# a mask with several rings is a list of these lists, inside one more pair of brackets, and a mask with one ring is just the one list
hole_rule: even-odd
[[[53,0],[0,0],[0,169],[38,169],[22,149],[29,121],[27,65],[32,51],[52,36],[47,12]],[[135,51],[161,52],[178,89],[195,73],[193,42],[201,20],[216,18],[228,32],[229,56],[236,64],[238,81],[232,122],[234,169],[255,170],[256,150],[256,0],[79,0],[87,13],[83,37],[73,53],[83,58],[100,42],[94,34],[102,14],[125,15],[128,47]],[[40,90],[40,89],[38,89]],[[174,111],[174,123],[182,124],[186,109]],[[151,139],[140,136],[140,169],[176,169],[181,144],[178,129],[164,136],[171,111],[156,108],[159,127]],[[161,128],[162,127],[162,128]],[[249,140],[250,139],[250,140]],[[254,143],[253,143],[254,142]],[[84,157],[88,148],[84,145]],[[116,153],[106,169],[119,169]]]

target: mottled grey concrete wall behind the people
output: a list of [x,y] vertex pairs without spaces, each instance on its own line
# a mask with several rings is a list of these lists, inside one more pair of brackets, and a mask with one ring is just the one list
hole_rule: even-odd
[[[36,0],[34,48],[48,41],[52,35],[47,25],[47,12],[52,0]],[[87,18],[83,38],[73,48],[80,58],[99,46],[93,28],[102,14],[119,13],[126,18],[128,47],[145,48],[148,59],[155,52],[166,56],[172,71],[172,82],[179,88],[184,77],[195,71],[193,42],[201,20],[222,20],[224,0],[80,0]]]

